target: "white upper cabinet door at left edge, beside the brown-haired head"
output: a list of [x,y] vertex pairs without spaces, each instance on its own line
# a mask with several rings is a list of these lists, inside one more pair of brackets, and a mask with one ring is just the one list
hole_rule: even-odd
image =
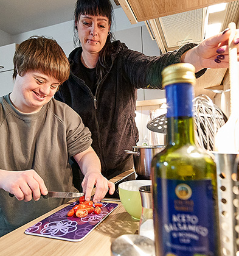
[[0,47],[0,72],[13,69],[13,56],[16,44],[7,44]]

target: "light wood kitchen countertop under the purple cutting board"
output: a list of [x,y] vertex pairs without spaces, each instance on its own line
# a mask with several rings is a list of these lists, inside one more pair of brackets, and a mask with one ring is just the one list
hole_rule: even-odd
[[[133,172],[123,172],[119,176],[111,179],[112,182],[117,182],[125,176]],[[94,191],[93,193],[94,194]],[[70,202],[74,202],[70,201]],[[103,200],[102,200],[103,201]],[[70,204],[70,202],[68,204]],[[107,201],[111,202],[111,201]],[[112,201],[116,202],[116,201]],[[53,238],[44,238],[41,236],[26,235],[24,231],[36,224],[38,221],[46,218],[52,213],[57,212],[68,204],[61,205],[54,210],[46,213],[39,218],[30,221],[26,225],[19,227],[16,230],[4,235],[0,238],[0,254],[1,256],[21,256],[21,255],[50,255],[50,256],[64,256],[64,255],[111,255],[111,243],[120,235],[134,234],[139,229],[139,221],[134,220],[125,211],[121,202],[116,202],[119,206],[109,216],[104,219],[99,226],[95,227],[88,236],[80,242],[70,242],[57,240]]]

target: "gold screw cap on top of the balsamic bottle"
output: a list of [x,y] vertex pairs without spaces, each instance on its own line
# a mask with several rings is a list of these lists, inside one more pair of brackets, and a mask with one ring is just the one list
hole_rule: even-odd
[[167,66],[162,71],[162,87],[176,83],[195,84],[195,67],[190,63],[178,63]]

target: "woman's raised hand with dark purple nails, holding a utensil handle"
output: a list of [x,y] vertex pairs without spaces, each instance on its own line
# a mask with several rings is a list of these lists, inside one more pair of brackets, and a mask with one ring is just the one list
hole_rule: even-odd
[[[195,48],[185,52],[183,62],[193,64],[196,68],[196,72],[203,68],[228,68],[229,36],[230,29],[225,29],[220,34],[207,38]],[[237,45],[237,52],[239,52],[239,30],[236,30],[233,41],[234,44]]]

